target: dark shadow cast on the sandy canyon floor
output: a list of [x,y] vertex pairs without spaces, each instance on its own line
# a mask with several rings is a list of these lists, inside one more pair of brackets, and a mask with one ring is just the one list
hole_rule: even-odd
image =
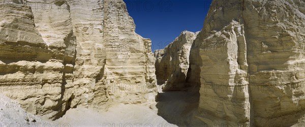
[[199,86],[158,93],[156,97],[158,115],[178,126],[194,126],[196,118],[193,114],[197,111],[199,96]]

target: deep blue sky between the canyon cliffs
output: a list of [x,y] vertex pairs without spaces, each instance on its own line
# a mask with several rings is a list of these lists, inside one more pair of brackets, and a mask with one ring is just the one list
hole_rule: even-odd
[[181,31],[200,31],[211,0],[124,0],[136,24],[136,33],[152,41],[153,52]]

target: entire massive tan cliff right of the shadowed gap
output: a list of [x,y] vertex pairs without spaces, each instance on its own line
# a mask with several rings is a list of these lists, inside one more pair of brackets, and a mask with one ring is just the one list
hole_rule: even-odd
[[305,115],[304,1],[212,1],[190,54],[195,118],[291,126]]

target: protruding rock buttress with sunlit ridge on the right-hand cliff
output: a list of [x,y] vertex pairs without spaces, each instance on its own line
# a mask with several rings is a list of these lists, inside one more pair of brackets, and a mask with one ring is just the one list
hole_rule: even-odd
[[[216,45],[219,47],[214,48]],[[235,48],[235,45],[242,47]],[[199,110],[205,112],[200,119],[208,124],[226,123],[226,117],[238,122],[249,120],[247,48],[243,25],[231,22],[207,37],[200,48]],[[213,117],[219,119],[209,119]],[[247,122],[245,124],[248,125]]]

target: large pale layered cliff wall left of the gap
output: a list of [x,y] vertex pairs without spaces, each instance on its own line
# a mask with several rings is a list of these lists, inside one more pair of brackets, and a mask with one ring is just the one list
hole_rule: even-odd
[[123,0],[0,5],[1,92],[56,119],[78,105],[143,103],[155,92],[151,41]]

